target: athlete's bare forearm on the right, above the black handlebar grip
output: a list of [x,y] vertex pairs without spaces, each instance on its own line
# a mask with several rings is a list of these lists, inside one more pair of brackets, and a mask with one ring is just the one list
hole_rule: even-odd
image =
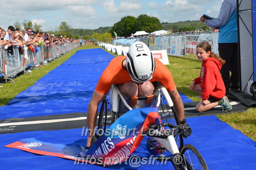
[[182,121],[185,118],[184,105],[176,87],[171,92],[169,92],[169,95],[172,98],[174,108],[179,117],[179,121]]

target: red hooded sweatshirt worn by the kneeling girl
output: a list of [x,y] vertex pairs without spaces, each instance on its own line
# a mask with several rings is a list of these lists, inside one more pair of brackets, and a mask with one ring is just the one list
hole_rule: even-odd
[[220,73],[222,63],[213,57],[206,58],[202,63],[200,77],[195,78],[195,83],[200,83],[203,91],[202,100],[206,100],[209,96],[220,100],[226,94],[226,88]]

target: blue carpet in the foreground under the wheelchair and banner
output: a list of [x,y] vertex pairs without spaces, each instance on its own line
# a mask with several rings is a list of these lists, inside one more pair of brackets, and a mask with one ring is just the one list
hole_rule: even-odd
[[[227,123],[217,119],[216,116],[202,116],[187,118],[192,128],[192,135],[185,139],[185,144],[193,144],[203,155],[209,169],[255,169],[256,147],[255,142],[244,136],[240,131],[232,129]],[[82,129],[59,131],[34,131],[16,134],[3,134],[0,139],[0,163],[1,169],[103,169],[101,166],[91,164],[75,165],[73,160],[36,155],[16,148],[7,148],[4,145],[25,138],[68,144],[78,139],[86,138],[82,135]],[[86,141],[86,139],[84,140]],[[145,148],[145,138],[132,155],[150,157]],[[13,163],[14,161],[15,163]],[[149,160],[148,160],[149,161]],[[139,167],[131,164],[112,165],[109,169],[159,169],[159,162],[151,161]],[[158,163],[158,164],[157,164]],[[172,168],[172,164],[160,165],[161,168]]]

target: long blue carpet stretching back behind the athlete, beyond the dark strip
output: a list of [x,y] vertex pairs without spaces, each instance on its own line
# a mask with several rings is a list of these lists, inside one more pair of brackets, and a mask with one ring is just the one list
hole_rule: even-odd
[[[96,84],[114,56],[99,49],[80,50],[0,107],[0,119],[87,112]],[[184,102],[191,102],[181,94]]]

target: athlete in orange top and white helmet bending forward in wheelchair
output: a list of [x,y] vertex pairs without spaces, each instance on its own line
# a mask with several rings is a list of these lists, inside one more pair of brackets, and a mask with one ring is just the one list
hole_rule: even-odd
[[[126,56],[112,59],[102,73],[88,105],[88,129],[95,131],[99,104],[106,98],[113,84],[117,84],[117,88],[123,95],[136,98],[152,96],[157,89],[155,85],[159,83],[167,89],[177,112],[179,123],[186,124],[184,105],[171,72],[153,57],[147,45],[136,41],[130,46]],[[137,101],[135,100],[133,104],[136,105]],[[93,134],[95,133],[89,134],[87,147],[95,142],[92,140]]]

